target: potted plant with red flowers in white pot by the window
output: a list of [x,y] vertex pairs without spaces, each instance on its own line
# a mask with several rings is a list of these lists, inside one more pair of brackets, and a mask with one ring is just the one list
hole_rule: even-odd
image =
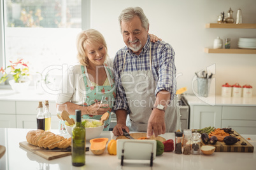
[[30,81],[27,79],[29,76],[29,67],[27,66],[28,62],[24,62],[23,59],[17,60],[17,62],[10,61],[11,65],[8,65],[5,69],[3,67],[0,69],[0,72],[3,76],[0,79],[1,82],[5,82],[11,75],[13,80],[9,81],[11,88],[20,93],[29,88]]

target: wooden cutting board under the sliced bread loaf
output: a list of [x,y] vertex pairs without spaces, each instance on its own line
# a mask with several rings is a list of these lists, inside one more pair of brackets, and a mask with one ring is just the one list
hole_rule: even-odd
[[36,155],[39,155],[40,157],[43,157],[47,160],[57,159],[60,157],[66,157],[68,155],[71,155],[71,152],[43,152],[39,150],[32,150],[32,149],[38,149],[39,147],[35,147],[34,145],[31,145],[27,143],[27,141],[20,142],[20,146],[26,148],[30,152],[33,152]]

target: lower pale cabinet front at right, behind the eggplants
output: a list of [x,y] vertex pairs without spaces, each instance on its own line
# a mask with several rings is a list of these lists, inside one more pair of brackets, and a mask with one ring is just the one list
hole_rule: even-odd
[[256,121],[222,120],[222,128],[232,128],[239,134],[256,134]]

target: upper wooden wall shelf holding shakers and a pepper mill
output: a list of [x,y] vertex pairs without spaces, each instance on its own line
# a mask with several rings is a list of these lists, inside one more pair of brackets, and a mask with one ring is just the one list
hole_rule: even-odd
[[256,23],[206,23],[206,29],[256,29]]

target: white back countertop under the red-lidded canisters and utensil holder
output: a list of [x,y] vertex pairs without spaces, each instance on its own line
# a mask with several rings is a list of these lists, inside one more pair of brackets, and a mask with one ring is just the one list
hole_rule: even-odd
[[226,106],[256,106],[256,96],[252,98],[233,98],[210,95],[207,98],[202,96],[184,95],[188,105],[226,105]]

